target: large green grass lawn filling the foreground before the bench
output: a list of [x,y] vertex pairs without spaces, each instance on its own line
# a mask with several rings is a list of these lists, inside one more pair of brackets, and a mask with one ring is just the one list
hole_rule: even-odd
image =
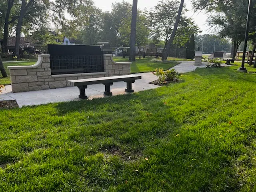
[[0,110],[0,191],[256,191],[256,75]]

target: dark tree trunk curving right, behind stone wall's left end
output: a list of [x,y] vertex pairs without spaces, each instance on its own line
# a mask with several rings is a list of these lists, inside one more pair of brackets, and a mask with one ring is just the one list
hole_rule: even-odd
[[28,8],[34,3],[34,0],[30,0],[26,5],[26,0],[22,0],[21,8],[20,8],[20,16],[18,19],[18,24],[16,27],[16,38],[15,38],[15,55],[19,58],[20,57],[20,33],[23,18],[28,10]]

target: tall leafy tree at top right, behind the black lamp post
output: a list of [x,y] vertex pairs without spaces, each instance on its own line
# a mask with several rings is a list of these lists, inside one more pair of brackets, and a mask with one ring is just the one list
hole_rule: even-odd
[[235,58],[244,40],[248,0],[193,0],[193,6],[195,10],[205,10],[211,14],[209,25],[217,26],[222,37],[232,38],[232,57]]

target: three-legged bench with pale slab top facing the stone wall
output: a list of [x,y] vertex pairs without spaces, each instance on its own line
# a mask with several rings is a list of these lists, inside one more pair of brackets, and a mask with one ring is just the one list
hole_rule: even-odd
[[139,75],[123,75],[123,76],[111,76],[111,77],[69,80],[69,82],[71,83],[71,86],[77,86],[79,88],[79,91],[80,91],[79,98],[87,99],[87,96],[85,94],[85,89],[87,88],[88,85],[104,84],[105,85],[104,94],[112,96],[112,92],[110,92],[110,86],[113,85],[113,82],[124,81],[127,84],[125,91],[126,92],[134,92],[134,90],[132,90],[132,83],[134,83],[135,80],[137,80],[137,79],[141,79],[141,76],[139,76]]

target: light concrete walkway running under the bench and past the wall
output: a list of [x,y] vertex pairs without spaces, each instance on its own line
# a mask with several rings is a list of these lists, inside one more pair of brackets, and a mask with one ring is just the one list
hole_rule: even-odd
[[[197,67],[204,68],[207,64],[208,63],[203,63],[202,66],[194,66],[193,61],[181,61],[180,64],[174,66],[173,68],[179,73],[185,73],[194,71]],[[160,87],[157,85],[149,84],[149,82],[157,80],[157,77],[154,76],[152,73],[140,73],[140,75],[142,76],[142,79],[136,80],[135,83],[132,84],[132,88],[135,92]],[[103,94],[104,88],[105,87],[103,84],[89,85],[86,89],[86,95],[89,99],[105,97]],[[127,94],[126,92],[124,92],[125,88],[125,82],[114,82],[113,86],[111,86],[111,92],[113,93],[113,95]],[[79,89],[77,87],[65,87],[58,89],[13,93],[12,87],[8,85],[5,86],[4,91],[2,92],[2,94],[0,94],[0,100],[16,100],[19,107],[22,107],[28,105],[80,100],[78,98],[78,94]]]

